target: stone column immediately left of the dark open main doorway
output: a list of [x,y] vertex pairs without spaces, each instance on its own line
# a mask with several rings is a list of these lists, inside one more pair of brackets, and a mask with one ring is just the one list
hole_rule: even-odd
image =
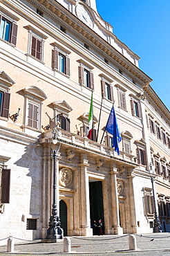
[[90,199],[89,199],[89,185],[87,174],[88,160],[87,156],[82,154],[80,156],[79,171],[80,171],[80,211],[81,219],[80,226],[82,228],[82,235],[92,236],[93,230],[90,227]]

